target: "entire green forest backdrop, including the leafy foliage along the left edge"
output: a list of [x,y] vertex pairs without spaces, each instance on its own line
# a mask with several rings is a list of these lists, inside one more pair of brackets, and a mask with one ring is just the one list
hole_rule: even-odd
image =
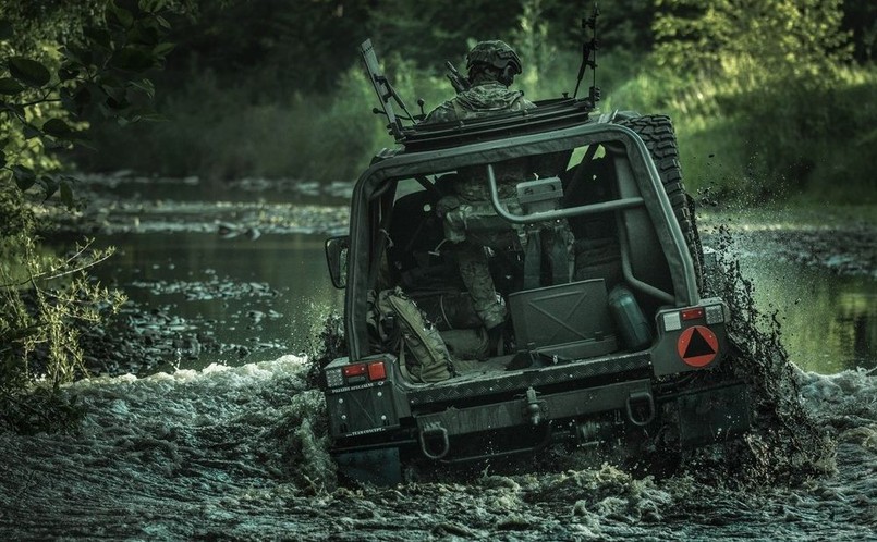
[[[371,113],[363,40],[410,107],[451,97],[444,62],[464,70],[483,39],[517,50],[515,87],[529,99],[557,98],[575,87],[593,8],[0,0],[0,429],[75,410],[51,390],[85,374],[78,330],[123,303],[89,279],[108,251],[44,243],[87,205],[77,173],[195,175],[207,193],[242,177],[353,181],[392,145]],[[702,201],[877,202],[877,3],[617,0],[599,11],[600,109],[669,114]],[[22,395],[34,381],[50,384],[36,404]]]

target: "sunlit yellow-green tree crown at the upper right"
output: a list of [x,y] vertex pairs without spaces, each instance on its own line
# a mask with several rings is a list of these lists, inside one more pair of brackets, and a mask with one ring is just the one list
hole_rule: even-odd
[[842,0],[657,0],[655,57],[679,74],[734,79],[744,90],[808,88],[849,62]]

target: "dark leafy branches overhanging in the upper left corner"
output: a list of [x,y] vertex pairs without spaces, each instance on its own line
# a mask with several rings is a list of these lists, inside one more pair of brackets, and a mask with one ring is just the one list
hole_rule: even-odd
[[73,207],[71,177],[58,175],[56,152],[87,141],[82,115],[94,108],[120,124],[157,118],[146,72],[172,46],[166,19],[188,2],[142,0],[0,1],[0,183],[41,187]]

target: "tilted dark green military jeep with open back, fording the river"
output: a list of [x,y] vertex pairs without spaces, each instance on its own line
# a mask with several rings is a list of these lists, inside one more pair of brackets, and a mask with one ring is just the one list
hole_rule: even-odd
[[[348,355],[321,369],[342,475],[394,483],[409,465],[498,464],[558,443],[620,442],[636,456],[748,429],[746,386],[721,370],[729,307],[702,296],[709,262],[667,116],[600,113],[592,88],[520,112],[403,125],[370,41],[363,54],[398,145],[356,182],[350,235],[326,243],[332,280],[346,288]],[[459,223],[490,239],[508,309],[492,350],[446,235],[452,217],[439,212],[461,173],[479,175],[490,195],[487,211]],[[571,238],[558,241],[564,231]],[[523,248],[537,237],[567,247],[569,280],[551,271],[557,250]],[[416,381],[406,370],[415,353],[380,340],[394,323],[374,315],[388,290],[438,332],[447,378]],[[695,378],[705,373],[714,378]]]

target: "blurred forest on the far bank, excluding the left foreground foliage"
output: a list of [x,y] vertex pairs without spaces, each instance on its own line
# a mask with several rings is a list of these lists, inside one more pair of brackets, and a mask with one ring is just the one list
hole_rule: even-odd
[[[874,201],[877,8],[865,4],[600,2],[601,109],[671,115],[692,189]],[[589,10],[553,0],[205,7],[174,28],[178,47],[157,76],[169,122],[122,137],[101,128],[106,152],[78,163],[215,182],[350,181],[391,143],[368,113],[376,102],[356,52],[366,37],[412,110],[417,98],[427,111],[449,98],[444,61],[463,69],[468,47],[488,38],[519,50],[515,85],[543,99],[573,90]]]

